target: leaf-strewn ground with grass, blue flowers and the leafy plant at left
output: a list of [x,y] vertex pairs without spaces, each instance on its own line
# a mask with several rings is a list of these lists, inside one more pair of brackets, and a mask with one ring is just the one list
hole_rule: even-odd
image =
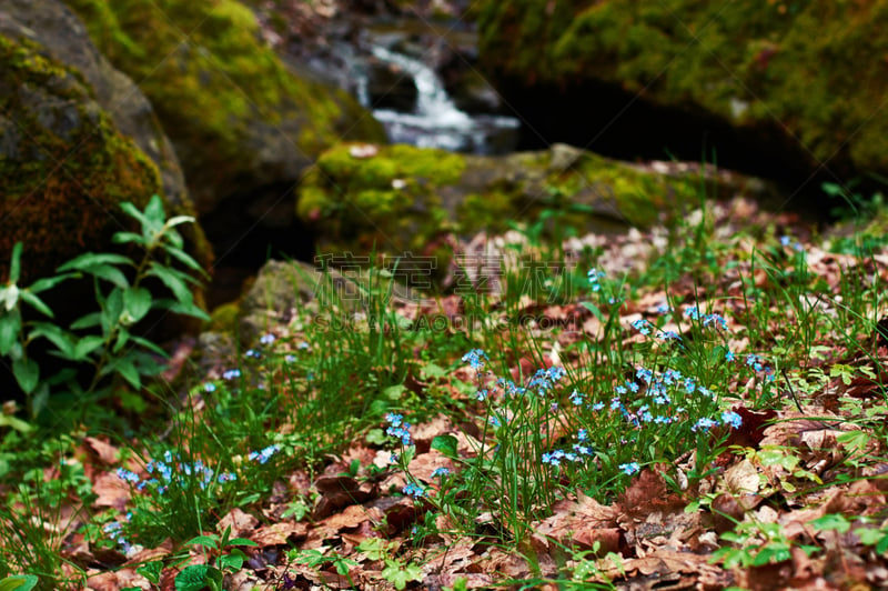
[[[700,204],[619,238],[491,237],[488,274],[457,250],[434,298],[401,290],[396,266],[322,274],[310,305],[178,392],[128,357],[153,344],[121,317],[196,313],[184,271],[164,276],[186,261],[149,257],[124,283],[129,262],[81,258],[60,271],[97,278],[81,361],[120,378],[102,399],[129,390],[154,411],[109,431],[84,404],[64,432],[32,400],[3,414],[0,577],[613,589],[677,572],[761,588],[781,565],[790,587],[869,581],[888,558],[888,260],[866,232]],[[128,240],[178,248],[152,237],[188,220],[131,214],[153,230]],[[139,291],[149,271],[172,300]],[[44,286],[3,288],[13,363],[37,337],[61,354],[88,339],[10,320]]]

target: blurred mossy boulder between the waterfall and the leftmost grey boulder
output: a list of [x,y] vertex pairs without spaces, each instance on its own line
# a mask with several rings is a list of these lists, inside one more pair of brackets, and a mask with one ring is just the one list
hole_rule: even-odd
[[300,77],[236,0],[65,0],[135,80],[173,141],[198,210],[280,194],[340,138],[381,140],[351,97]]

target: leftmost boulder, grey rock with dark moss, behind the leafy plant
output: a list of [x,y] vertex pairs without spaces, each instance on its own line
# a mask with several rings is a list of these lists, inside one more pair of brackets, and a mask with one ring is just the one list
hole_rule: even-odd
[[[84,250],[110,250],[128,223],[120,202],[142,206],[154,193],[171,214],[192,211],[175,154],[138,88],[62,3],[0,4],[0,276],[18,241],[26,280]],[[186,232],[189,251],[209,266],[200,228]]]

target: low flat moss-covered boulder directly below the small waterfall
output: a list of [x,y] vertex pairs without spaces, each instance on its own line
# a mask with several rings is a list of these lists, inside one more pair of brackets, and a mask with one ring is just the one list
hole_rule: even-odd
[[[759,197],[770,188],[724,172],[713,193]],[[504,231],[559,210],[578,231],[646,226],[696,202],[699,167],[633,166],[564,144],[504,157],[410,146],[346,143],[323,154],[299,189],[296,211],[324,251],[437,254],[445,233]]]

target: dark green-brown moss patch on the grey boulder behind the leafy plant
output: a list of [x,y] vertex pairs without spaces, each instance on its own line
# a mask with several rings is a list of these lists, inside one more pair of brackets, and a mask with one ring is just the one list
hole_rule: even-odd
[[[109,244],[121,201],[162,194],[154,163],[92,101],[79,72],[40,46],[0,36],[0,112],[14,127],[0,158],[0,251],[24,243],[30,278]],[[0,260],[0,276],[8,261]]]

